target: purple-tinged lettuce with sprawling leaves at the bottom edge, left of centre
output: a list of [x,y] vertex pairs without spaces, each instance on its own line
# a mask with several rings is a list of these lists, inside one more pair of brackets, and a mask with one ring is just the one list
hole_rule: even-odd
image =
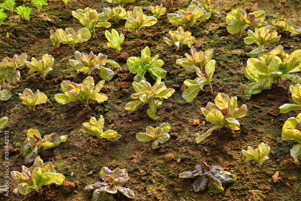
[[114,194],[117,191],[129,198],[135,198],[132,190],[123,187],[130,179],[126,169],[115,168],[111,171],[108,167],[102,167],[98,176],[102,178],[103,182],[97,181],[95,184],[85,187],[87,190],[94,190],[93,201],[113,201],[114,197],[110,193]]

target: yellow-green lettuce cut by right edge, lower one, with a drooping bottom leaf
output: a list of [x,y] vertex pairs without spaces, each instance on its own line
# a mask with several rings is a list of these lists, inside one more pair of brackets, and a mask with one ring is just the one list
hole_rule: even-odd
[[282,127],[282,137],[285,140],[295,140],[297,143],[290,149],[290,155],[293,156],[294,161],[298,162],[297,157],[301,154],[301,113],[297,118],[291,117],[285,121]]

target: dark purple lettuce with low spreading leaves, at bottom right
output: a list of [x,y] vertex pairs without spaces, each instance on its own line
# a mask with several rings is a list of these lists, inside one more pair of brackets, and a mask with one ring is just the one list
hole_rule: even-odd
[[222,184],[231,184],[236,181],[236,176],[230,172],[224,171],[221,166],[209,166],[205,162],[196,165],[194,171],[186,171],[179,174],[180,178],[197,179],[192,184],[195,192],[204,191],[206,187],[213,193],[224,191]]

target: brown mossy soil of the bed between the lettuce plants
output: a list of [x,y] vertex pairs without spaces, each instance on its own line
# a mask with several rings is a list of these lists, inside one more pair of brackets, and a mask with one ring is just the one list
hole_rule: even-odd
[[[3,0],[0,0],[0,3],[2,2]],[[235,131],[234,134],[222,127],[201,143],[195,143],[197,135],[212,126],[206,121],[200,108],[206,106],[207,102],[213,102],[214,97],[209,87],[204,86],[193,102],[188,103],[182,98],[180,89],[183,81],[195,79],[196,75],[178,66],[176,59],[182,58],[190,49],[184,45],[182,52],[176,51],[175,46],[167,45],[163,41],[169,30],[178,27],[171,25],[166,15],[180,8],[187,8],[190,1],[174,0],[171,5],[171,2],[164,0],[153,2],[141,0],[126,3],[124,8],[132,10],[135,6],[140,6],[145,14],[152,15],[149,6],[161,3],[166,7],[166,14],[161,16],[154,26],[141,29],[139,37],[136,30],[124,28],[125,20],[120,20],[118,25],[111,22],[112,26],[107,30],[114,28],[125,35],[120,55],[106,46],[105,29],[102,27],[96,28],[98,39],[92,36],[87,42],[75,46],[80,52],[93,51],[95,55],[101,52],[107,55],[108,59],[118,61],[122,67],[111,68],[115,76],[105,83],[102,90],[109,99],[101,104],[89,101],[92,111],[88,111],[81,102],[62,105],[55,101],[54,95],[61,93],[60,83],[63,80],[81,83],[86,75],[76,72],[70,66],[68,59],[73,59],[74,55],[69,46],[63,44],[60,48],[53,46],[49,39],[49,31],[66,27],[75,30],[82,28],[79,20],[71,14],[73,10],[90,7],[101,12],[103,7],[112,8],[116,5],[105,0],[70,0],[67,5],[59,0],[49,0],[48,5],[43,6],[39,14],[37,9],[27,2],[26,6],[33,8],[30,22],[19,17],[16,12],[13,15],[7,12],[8,17],[0,27],[0,59],[11,58],[14,54],[20,55],[23,52],[28,55],[28,61],[32,56],[40,60],[45,53],[55,59],[53,71],[46,76],[46,80],[40,77],[39,73],[28,75],[29,69],[24,65],[20,68],[21,79],[17,84],[1,83],[2,89],[12,93],[11,99],[0,102],[1,117],[9,118],[8,124],[1,130],[1,136],[4,136],[4,131],[9,131],[10,145],[14,149],[9,156],[9,170],[22,171],[23,142],[27,129],[38,129],[42,136],[50,133],[68,135],[66,142],[42,152],[40,156],[44,162],[52,162],[56,171],[64,174],[67,181],[75,184],[75,188],[66,194],[60,186],[50,184],[45,186],[42,196],[35,190],[23,196],[20,193],[12,193],[16,185],[10,177],[9,197],[0,195],[0,200],[92,200],[92,190],[84,190],[84,187],[100,181],[97,174],[103,166],[128,170],[131,178],[125,187],[135,193],[135,200],[301,200],[300,162],[294,162],[290,156],[290,149],[296,142],[281,137],[284,121],[296,117],[299,111],[281,114],[278,109],[284,103],[293,103],[289,91],[292,83],[289,80],[280,81],[280,84],[274,83],[270,90],[263,90],[259,94],[252,95],[250,99],[244,96],[244,90],[250,83],[245,77],[245,67],[249,58],[245,53],[250,52],[256,45],[244,44],[243,38],[247,36],[246,33],[242,38],[240,33],[228,34],[225,23],[228,11],[221,11],[218,8],[221,18],[197,22],[190,29],[197,39],[193,46],[198,51],[214,49],[213,58],[216,60],[212,84],[214,97],[218,92],[237,96],[238,105],[246,104],[248,114],[239,119],[243,129]],[[301,12],[301,4],[296,0],[259,0],[250,3],[256,5],[257,9],[266,11],[266,21],[270,25],[272,19],[278,15],[290,18],[300,16]],[[23,1],[19,0],[15,7],[22,4]],[[186,24],[182,26],[185,31],[188,30]],[[275,28],[271,26],[271,30],[274,31]],[[5,38],[6,33],[9,33],[9,39]],[[301,49],[300,39],[300,35],[290,36],[289,32],[284,32],[280,41],[266,45],[265,51],[283,45],[285,52],[293,52],[295,49]],[[164,99],[162,105],[158,107],[159,118],[156,121],[148,117],[147,104],[139,105],[132,112],[124,109],[126,103],[132,101],[129,94],[135,93],[131,85],[135,75],[127,70],[126,59],[131,56],[140,57],[141,50],[145,46],[150,47],[152,57],[158,54],[165,63],[163,69],[167,71],[167,75],[162,81],[168,83],[169,87],[175,86],[176,89],[176,92],[169,99]],[[102,80],[97,70],[94,70],[92,77],[95,83]],[[146,74],[146,79],[154,84],[150,74]],[[30,88],[34,92],[40,90],[48,96],[48,101],[37,105],[36,111],[33,112],[22,104],[17,95],[25,88]],[[83,122],[89,121],[91,116],[98,118],[100,115],[105,119],[104,130],[116,130],[122,136],[119,140],[115,142],[104,140],[101,144],[97,137],[82,131]],[[193,125],[194,121],[199,121],[199,124]],[[157,127],[163,122],[171,125],[171,137],[159,148],[152,149],[151,142],[142,143],[136,140],[136,133],[145,132],[147,126]],[[260,142],[268,143],[271,147],[270,159],[262,168],[255,162],[244,163],[241,150],[247,149],[247,146],[256,148]],[[3,137],[0,139],[1,144],[4,146]],[[1,160],[4,160],[3,157]],[[223,185],[225,190],[222,193],[211,193],[208,189],[195,193],[192,188],[194,179],[178,178],[178,174],[194,170],[195,165],[201,162],[222,166],[226,171],[235,174],[237,181]],[[91,171],[92,175],[86,176]],[[273,183],[272,176],[276,171],[279,172],[279,176],[277,182]],[[0,184],[4,182],[4,168],[1,166]],[[114,199],[130,200],[121,193],[114,194]]]

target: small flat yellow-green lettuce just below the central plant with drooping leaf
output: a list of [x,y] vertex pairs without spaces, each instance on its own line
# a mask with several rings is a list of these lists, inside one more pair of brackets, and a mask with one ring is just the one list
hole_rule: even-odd
[[141,142],[149,142],[154,140],[152,143],[152,148],[156,149],[160,143],[165,143],[169,140],[170,125],[168,123],[163,123],[157,128],[151,126],[146,127],[146,133],[137,133],[136,138]]

